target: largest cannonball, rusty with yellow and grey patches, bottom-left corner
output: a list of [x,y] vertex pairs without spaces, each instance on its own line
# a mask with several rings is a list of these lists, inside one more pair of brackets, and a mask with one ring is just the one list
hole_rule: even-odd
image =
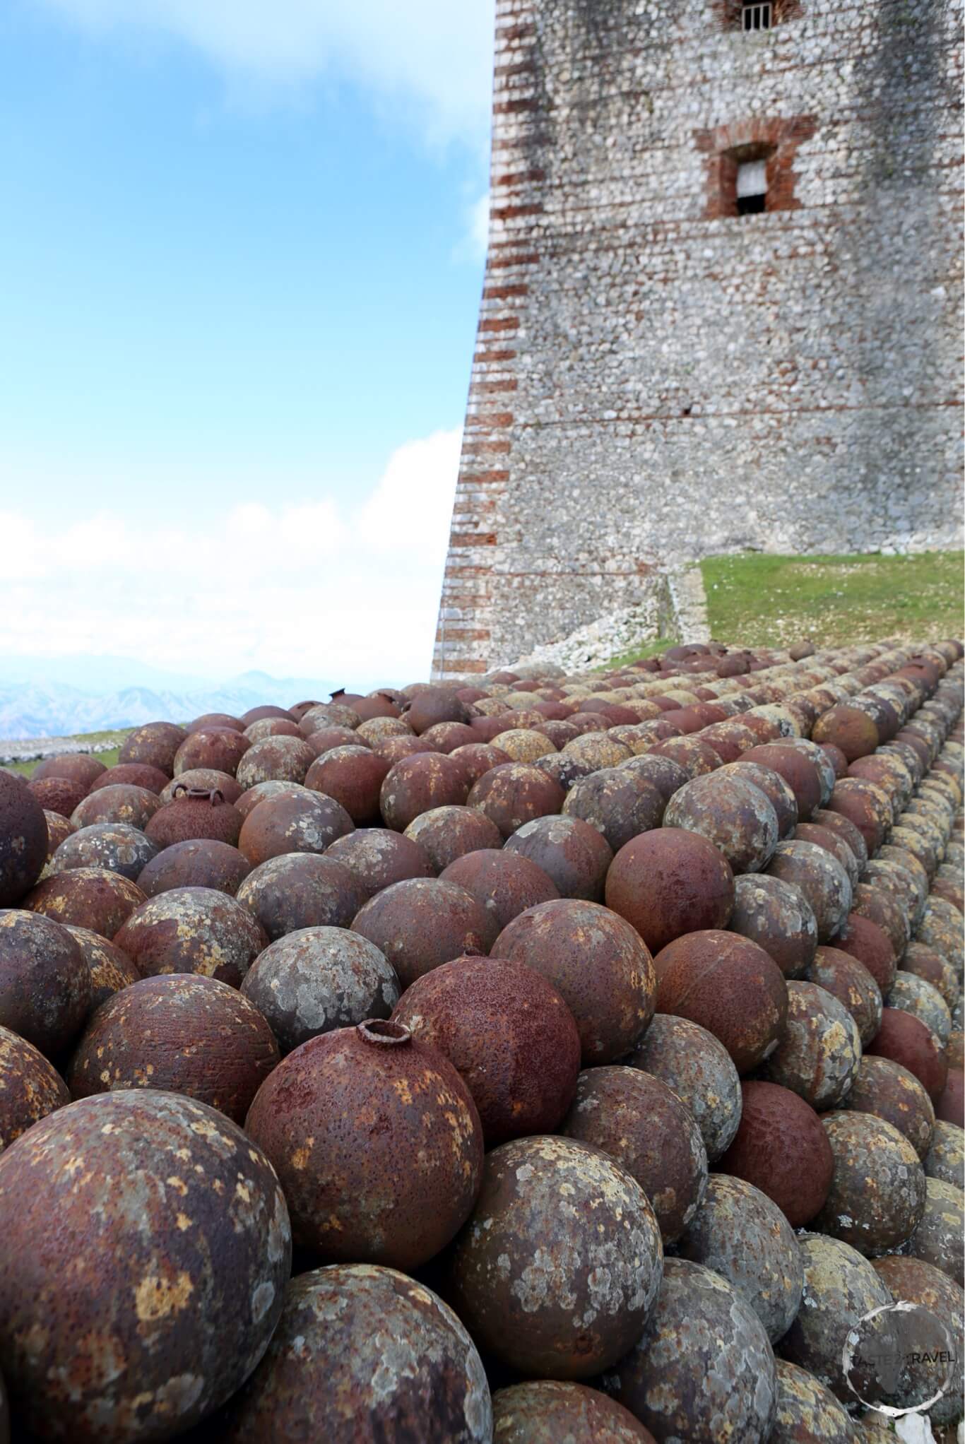
[[0,1155],[0,1357],[42,1438],[169,1440],[228,1399],[282,1311],[292,1245],[264,1155],[152,1090],[58,1109]]

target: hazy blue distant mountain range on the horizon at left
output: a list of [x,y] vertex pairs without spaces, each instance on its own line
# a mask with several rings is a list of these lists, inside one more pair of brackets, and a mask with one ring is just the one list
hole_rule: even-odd
[[[25,667],[23,663],[25,658],[16,658],[16,666],[0,661],[0,738],[4,739],[104,732],[160,719],[188,722],[202,712],[230,712],[238,716],[266,702],[282,708],[315,697],[325,702],[332,687],[341,684],[246,671],[217,684],[204,684],[199,677],[176,677],[181,686],[147,686],[142,679],[142,684],[100,690],[100,677],[117,673],[113,664],[123,664],[124,658],[91,658],[91,676],[82,687],[59,677],[56,682],[43,680],[33,666]],[[110,666],[103,666],[104,663]],[[49,671],[53,670],[49,663],[48,667]],[[139,669],[127,663],[127,670],[143,673],[155,669]],[[155,670],[155,677],[166,676],[173,674]]]

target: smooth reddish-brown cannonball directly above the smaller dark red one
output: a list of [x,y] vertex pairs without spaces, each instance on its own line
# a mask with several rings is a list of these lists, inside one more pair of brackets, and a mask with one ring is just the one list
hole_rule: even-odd
[[738,1073],[767,1058],[784,1032],[787,983],[747,937],[704,928],[667,943],[654,960],[657,1008],[712,1032]]

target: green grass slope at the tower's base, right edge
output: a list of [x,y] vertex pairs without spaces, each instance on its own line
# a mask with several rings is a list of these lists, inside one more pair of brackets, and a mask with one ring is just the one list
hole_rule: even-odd
[[701,562],[711,635],[748,647],[958,637],[964,556],[712,556]]

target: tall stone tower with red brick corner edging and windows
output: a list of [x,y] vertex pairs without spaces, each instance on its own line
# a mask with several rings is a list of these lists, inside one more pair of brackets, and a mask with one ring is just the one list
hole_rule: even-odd
[[497,0],[436,676],[654,563],[961,536],[962,0]]

